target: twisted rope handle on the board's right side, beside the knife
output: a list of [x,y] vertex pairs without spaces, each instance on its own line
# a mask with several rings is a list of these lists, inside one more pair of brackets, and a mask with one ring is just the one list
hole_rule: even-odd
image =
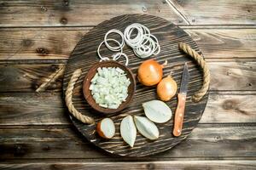
[[191,48],[188,44],[180,42],[178,44],[178,47],[183,50],[186,54],[189,54],[195,61],[198,63],[198,65],[201,66],[203,69],[203,85],[198,92],[196,92],[192,99],[195,102],[198,102],[202,99],[202,97],[207,94],[207,90],[209,89],[210,85],[210,71],[207,66],[207,62],[202,58],[200,54],[198,54],[193,48]]

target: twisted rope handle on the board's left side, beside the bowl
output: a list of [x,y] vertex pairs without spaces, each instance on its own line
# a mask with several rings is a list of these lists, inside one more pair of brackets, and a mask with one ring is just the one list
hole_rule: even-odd
[[65,93],[66,94],[65,101],[66,101],[68,111],[72,113],[74,117],[76,117],[79,121],[84,122],[86,124],[92,124],[92,123],[95,123],[94,119],[90,116],[84,116],[82,113],[77,111],[73,106],[73,102],[72,102],[73,88],[75,83],[78,81],[79,77],[81,76],[81,74],[82,74],[81,69],[78,69],[73,72],[73,75],[70,78],[70,81],[68,82],[68,85],[67,85],[67,90]]

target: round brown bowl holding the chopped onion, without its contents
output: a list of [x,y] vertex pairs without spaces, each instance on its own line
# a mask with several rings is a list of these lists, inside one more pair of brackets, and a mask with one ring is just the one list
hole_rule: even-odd
[[[91,93],[90,93],[90,80],[96,75],[97,68],[99,67],[119,67],[126,73],[126,77],[128,77],[131,81],[131,84],[128,87],[128,96],[124,102],[119,105],[117,109],[108,109],[108,108],[103,108],[100,105],[96,104],[95,99],[93,99]],[[129,68],[127,68],[125,65],[120,64],[117,61],[113,60],[108,60],[108,61],[102,61],[99,62],[96,65],[93,65],[90,70],[87,72],[87,75],[84,77],[84,83],[83,83],[83,93],[84,93],[84,98],[86,99],[87,103],[96,111],[100,111],[102,113],[115,113],[118,111],[122,111],[125,109],[125,107],[131,102],[131,99],[133,98],[133,95],[136,90],[136,80],[135,77],[133,76],[132,72],[130,71]]]

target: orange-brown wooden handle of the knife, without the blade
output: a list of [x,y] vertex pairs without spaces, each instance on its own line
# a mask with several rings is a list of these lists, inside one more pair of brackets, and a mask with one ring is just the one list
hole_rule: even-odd
[[177,109],[175,111],[173,135],[179,136],[183,129],[183,116],[186,104],[186,94],[177,94]]

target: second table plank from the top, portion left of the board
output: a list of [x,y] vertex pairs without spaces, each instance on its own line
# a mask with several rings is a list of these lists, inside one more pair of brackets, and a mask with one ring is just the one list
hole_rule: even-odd
[[87,31],[0,30],[0,59],[67,59]]

